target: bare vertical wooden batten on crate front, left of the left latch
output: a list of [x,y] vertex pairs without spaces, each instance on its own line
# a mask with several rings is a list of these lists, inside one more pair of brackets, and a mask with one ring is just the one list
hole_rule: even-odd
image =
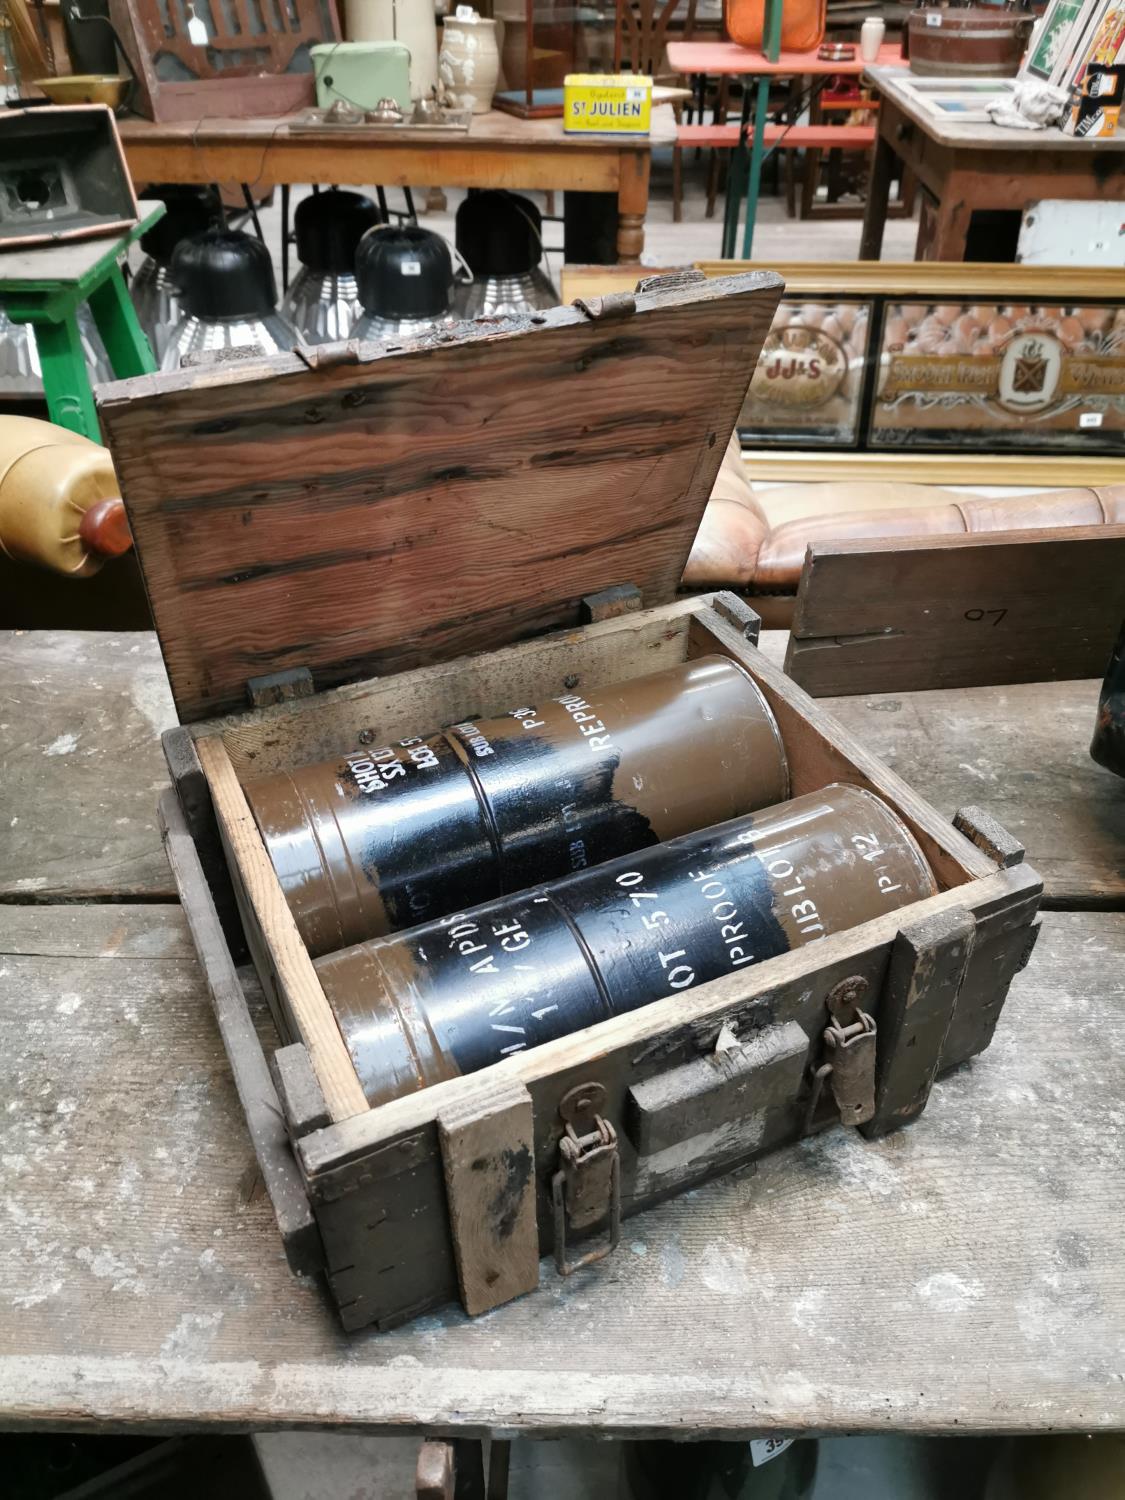
[[488,1312],[538,1286],[531,1095],[482,1088],[438,1114],[438,1136],[460,1300]]

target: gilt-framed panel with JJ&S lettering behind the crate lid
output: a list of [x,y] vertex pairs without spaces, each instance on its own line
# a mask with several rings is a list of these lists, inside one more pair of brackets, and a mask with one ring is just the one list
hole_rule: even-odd
[[[729,276],[744,262],[699,268]],[[894,453],[1125,462],[1125,268],[771,268],[786,294],[738,420],[746,447],[822,464]]]

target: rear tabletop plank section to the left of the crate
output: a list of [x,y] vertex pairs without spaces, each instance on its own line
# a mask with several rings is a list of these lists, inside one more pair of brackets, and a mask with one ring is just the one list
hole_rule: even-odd
[[176,900],[156,828],[174,722],[150,632],[0,633],[0,900]]

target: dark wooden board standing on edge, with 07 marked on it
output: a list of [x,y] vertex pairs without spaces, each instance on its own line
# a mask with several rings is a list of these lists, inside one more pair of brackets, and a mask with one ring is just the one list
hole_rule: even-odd
[[837,693],[1101,672],[1125,615],[1125,526],[813,543],[786,672]]

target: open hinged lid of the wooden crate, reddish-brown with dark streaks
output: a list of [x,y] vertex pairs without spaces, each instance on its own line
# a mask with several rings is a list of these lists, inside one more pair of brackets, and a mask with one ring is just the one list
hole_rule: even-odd
[[675,592],[782,294],[768,273],[100,387],[182,722]]

